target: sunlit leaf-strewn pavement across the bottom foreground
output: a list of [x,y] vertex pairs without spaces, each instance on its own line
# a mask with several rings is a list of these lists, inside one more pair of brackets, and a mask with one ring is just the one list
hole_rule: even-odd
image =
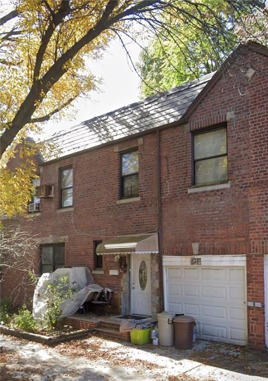
[[89,335],[54,348],[0,336],[1,381],[264,381],[268,354],[198,340],[192,350]]

